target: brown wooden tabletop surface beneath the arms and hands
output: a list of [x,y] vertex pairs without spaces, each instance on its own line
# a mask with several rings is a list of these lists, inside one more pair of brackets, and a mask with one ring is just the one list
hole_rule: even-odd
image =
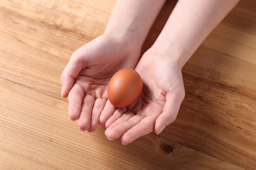
[[[60,97],[75,49],[104,32],[114,0],[0,2],[0,169],[255,169],[256,1],[241,1],[183,69],[186,97],[159,136],[128,146],[79,131]],[[143,51],[175,1],[167,1]]]

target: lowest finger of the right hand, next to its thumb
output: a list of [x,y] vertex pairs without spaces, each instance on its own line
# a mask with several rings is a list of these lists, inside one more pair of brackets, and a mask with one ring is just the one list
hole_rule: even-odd
[[151,133],[154,129],[154,122],[156,121],[157,115],[147,116],[143,118],[138,124],[127,130],[121,137],[121,143],[126,145],[132,143],[139,137]]

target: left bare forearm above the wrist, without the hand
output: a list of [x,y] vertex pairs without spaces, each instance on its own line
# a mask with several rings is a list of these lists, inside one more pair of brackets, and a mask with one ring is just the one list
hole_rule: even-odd
[[115,34],[142,46],[165,0],[118,0],[106,27],[106,34]]

